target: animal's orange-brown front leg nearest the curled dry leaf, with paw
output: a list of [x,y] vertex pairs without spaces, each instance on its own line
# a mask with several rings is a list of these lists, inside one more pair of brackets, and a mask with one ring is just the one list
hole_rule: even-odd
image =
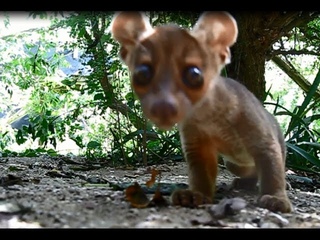
[[197,141],[183,144],[189,189],[177,190],[171,196],[173,205],[196,207],[212,203],[218,171],[217,153],[210,141]]

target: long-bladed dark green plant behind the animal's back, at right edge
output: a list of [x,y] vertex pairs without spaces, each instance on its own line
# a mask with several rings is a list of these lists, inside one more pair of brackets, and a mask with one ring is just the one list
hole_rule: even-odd
[[319,85],[320,71],[302,104],[296,106],[293,111],[278,103],[265,103],[275,105],[274,115],[290,117],[284,133],[288,151],[288,167],[304,171],[319,172],[320,170],[320,128],[316,125],[316,122],[320,120],[320,102],[318,99],[313,99]]

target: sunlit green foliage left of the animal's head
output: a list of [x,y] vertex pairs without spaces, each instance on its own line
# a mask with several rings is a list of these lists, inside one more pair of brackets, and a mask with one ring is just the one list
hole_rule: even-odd
[[[45,12],[30,15],[47,17]],[[181,158],[177,131],[158,132],[143,117],[140,103],[130,88],[126,67],[119,60],[119,46],[108,31],[112,16],[107,12],[69,13],[52,27],[57,32],[68,29],[70,39],[65,42],[52,40],[54,34],[42,30],[36,32],[37,40],[27,33],[21,39],[20,36],[6,39],[9,47],[4,80],[8,86],[30,92],[23,106],[30,124],[15,132],[16,143],[32,141],[47,149],[56,148],[70,138],[88,159],[106,157],[114,164],[148,164],[169,157]],[[157,19],[164,20],[161,16]],[[184,20],[183,24],[186,23]],[[10,47],[21,43],[22,37],[24,49],[18,57]],[[80,69],[78,74],[56,77],[59,68],[67,63],[62,51],[48,58],[51,48],[80,49],[80,61],[91,71],[84,75],[85,69]]]

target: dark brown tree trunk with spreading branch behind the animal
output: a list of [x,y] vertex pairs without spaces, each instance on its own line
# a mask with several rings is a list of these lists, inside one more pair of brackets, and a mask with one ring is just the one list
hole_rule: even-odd
[[265,100],[265,62],[272,58],[273,44],[294,27],[305,25],[314,12],[231,12],[238,24],[237,42],[231,48],[227,76],[243,83]]

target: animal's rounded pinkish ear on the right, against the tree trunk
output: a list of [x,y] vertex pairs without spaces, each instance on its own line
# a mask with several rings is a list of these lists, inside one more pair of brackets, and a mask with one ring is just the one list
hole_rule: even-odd
[[204,12],[191,34],[212,51],[219,51],[224,64],[230,62],[230,47],[238,37],[236,20],[227,12]]

